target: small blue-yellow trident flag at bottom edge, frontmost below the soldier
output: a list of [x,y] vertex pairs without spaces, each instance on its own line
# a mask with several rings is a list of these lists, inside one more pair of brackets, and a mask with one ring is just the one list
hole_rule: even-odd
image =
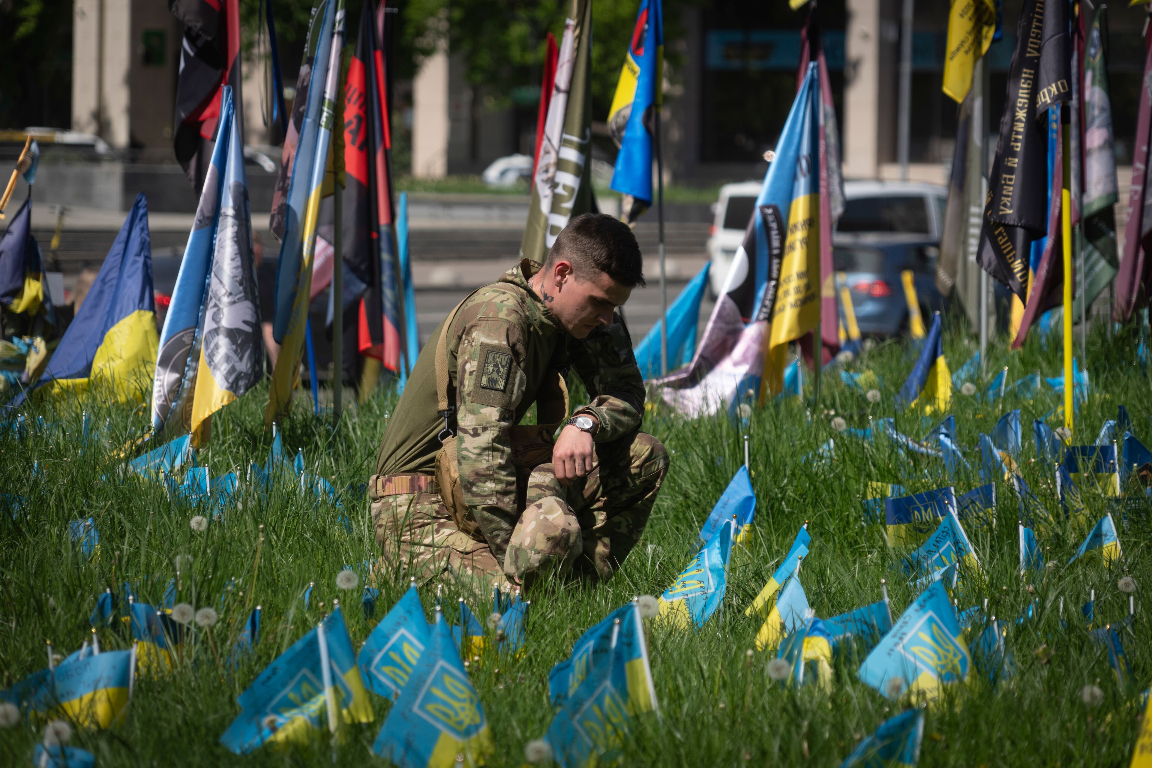
[[400,768],[477,766],[493,751],[479,697],[437,608],[429,646],[392,705],[372,752]]

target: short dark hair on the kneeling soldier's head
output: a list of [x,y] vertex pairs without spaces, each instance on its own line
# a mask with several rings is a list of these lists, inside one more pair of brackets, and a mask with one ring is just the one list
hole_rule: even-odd
[[576,267],[602,272],[626,288],[644,288],[644,258],[636,235],[620,219],[606,213],[582,213],[563,228],[545,266],[567,259]]

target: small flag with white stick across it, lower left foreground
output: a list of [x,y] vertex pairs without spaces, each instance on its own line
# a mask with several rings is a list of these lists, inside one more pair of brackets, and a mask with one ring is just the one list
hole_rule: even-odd
[[264,744],[306,744],[332,728],[328,713],[338,724],[372,722],[340,609],[268,664],[236,704],[241,713],[220,737],[235,754]]

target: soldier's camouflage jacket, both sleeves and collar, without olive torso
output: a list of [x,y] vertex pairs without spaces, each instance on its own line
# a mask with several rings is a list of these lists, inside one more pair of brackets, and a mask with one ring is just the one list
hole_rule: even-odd
[[596,416],[598,442],[636,429],[644,413],[644,380],[620,315],[586,339],[571,337],[529,287],[538,269],[523,259],[473,294],[448,332],[461,489],[498,560],[518,518],[509,432],[551,371],[571,366],[584,382],[591,403],[576,412]]

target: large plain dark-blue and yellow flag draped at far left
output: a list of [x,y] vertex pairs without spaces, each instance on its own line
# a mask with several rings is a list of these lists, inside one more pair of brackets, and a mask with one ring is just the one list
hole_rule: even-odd
[[106,387],[119,402],[145,402],[157,343],[147,203],[141,193],[39,385],[52,394]]

